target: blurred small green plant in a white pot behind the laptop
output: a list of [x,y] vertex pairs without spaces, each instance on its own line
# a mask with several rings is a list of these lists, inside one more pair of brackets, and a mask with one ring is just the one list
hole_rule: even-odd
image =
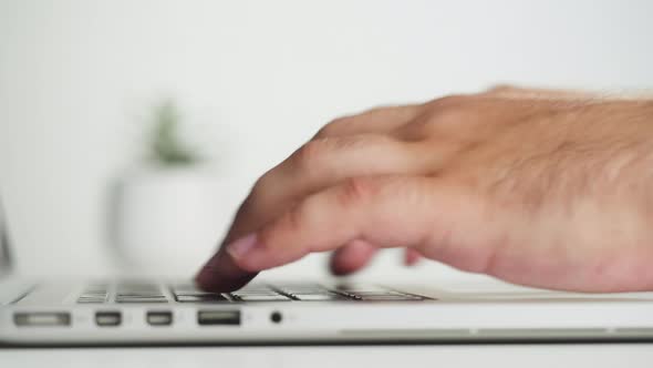
[[188,276],[215,248],[219,190],[185,142],[175,103],[153,112],[144,164],[114,187],[110,235],[131,269]]

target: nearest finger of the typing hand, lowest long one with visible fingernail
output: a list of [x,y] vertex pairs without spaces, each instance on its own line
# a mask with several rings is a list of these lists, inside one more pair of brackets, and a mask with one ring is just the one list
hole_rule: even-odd
[[[415,246],[435,259],[446,251],[442,257],[475,269],[488,256],[487,248],[469,247],[474,242],[467,243],[465,236],[483,236],[489,226],[466,232],[468,224],[460,217],[473,225],[479,222],[465,203],[452,186],[438,187],[435,178],[356,177],[309,196],[257,233],[228,245],[227,252],[241,268],[253,272],[364,239],[380,247]],[[462,246],[442,248],[449,243]]]

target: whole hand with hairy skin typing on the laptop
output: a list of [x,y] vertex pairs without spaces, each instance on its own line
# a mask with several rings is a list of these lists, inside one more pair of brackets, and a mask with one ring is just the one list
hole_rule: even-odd
[[537,287],[653,289],[653,103],[511,88],[325,125],[266,173],[197,277],[227,292],[335,251],[406,247]]

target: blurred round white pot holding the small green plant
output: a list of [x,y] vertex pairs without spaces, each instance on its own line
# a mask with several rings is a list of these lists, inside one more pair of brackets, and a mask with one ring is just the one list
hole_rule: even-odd
[[138,274],[191,276],[215,252],[230,209],[224,185],[195,167],[149,168],[113,190],[110,235],[118,260]]

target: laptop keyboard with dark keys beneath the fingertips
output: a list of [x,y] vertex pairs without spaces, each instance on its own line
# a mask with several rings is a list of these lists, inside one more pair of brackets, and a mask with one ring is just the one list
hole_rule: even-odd
[[[169,293],[167,293],[169,292]],[[79,304],[105,303],[194,303],[228,304],[256,301],[417,301],[427,297],[380,286],[342,285],[329,288],[320,284],[251,284],[232,293],[209,293],[193,284],[160,285],[144,280],[115,284],[94,283],[77,297]]]

